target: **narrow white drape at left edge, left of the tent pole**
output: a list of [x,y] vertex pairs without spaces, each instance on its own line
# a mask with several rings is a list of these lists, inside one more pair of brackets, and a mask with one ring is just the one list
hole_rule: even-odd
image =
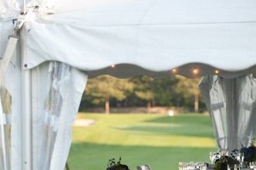
[[[7,28],[7,27],[6,27]],[[7,31],[7,30],[6,30]],[[6,31],[1,40],[8,40]],[[2,51],[5,50],[5,45]],[[1,49],[1,48],[0,48]],[[2,53],[3,54],[3,53]],[[2,60],[0,60],[2,62]],[[20,57],[14,54],[0,87],[0,169],[21,170],[21,68]]]

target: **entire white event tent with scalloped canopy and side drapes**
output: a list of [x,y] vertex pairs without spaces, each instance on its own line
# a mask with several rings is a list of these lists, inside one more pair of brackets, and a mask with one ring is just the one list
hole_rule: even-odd
[[253,123],[237,120],[255,117],[255,44],[254,0],[0,0],[0,169],[64,169],[87,77],[100,74],[208,75],[220,148],[246,144]]

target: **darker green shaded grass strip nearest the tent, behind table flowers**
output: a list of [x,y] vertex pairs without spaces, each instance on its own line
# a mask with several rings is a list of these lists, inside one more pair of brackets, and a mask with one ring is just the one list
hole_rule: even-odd
[[73,143],[68,162],[72,170],[105,170],[109,158],[122,157],[123,163],[135,170],[149,164],[153,170],[178,169],[179,161],[208,161],[209,151],[216,148],[180,148],[123,146],[111,144]]

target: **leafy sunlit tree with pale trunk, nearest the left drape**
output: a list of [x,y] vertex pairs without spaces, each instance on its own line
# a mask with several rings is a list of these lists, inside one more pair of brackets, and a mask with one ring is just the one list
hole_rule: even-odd
[[133,90],[129,79],[118,79],[113,76],[98,76],[87,82],[86,94],[93,97],[93,103],[105,103],[105,113],[109,114],[110,99],[122,101]]

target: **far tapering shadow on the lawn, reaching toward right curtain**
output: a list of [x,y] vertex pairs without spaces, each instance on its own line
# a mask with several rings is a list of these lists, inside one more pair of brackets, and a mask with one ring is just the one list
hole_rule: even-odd
[[[134,132],[149,132],[144,135],[153,135],[158,133],[161,135],[182,135],[189,137],[210,137],[214,139],[214,132],[212,123],[209,117],[206,116],[175,116],[175,117],[158,117],[144,121],[147,124],[136,124],[134,126],[127,126],[115,128],[118,130],[127,130]],[[151,123],[151,124],[150,124]],[[152,126],[152,123],[157,123]],[[163,124],[163,126],[161,126]],[[172,126],[166,126],[172,124]],[[175,126],[177,124],[178,126]],[[174,126],[173,126],[174,125]]]

